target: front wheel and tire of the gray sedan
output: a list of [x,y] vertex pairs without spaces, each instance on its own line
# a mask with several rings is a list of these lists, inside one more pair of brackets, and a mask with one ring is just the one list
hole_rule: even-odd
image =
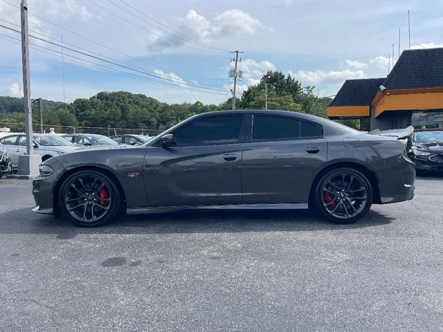
[[62,216],[81,227],[98,227],[113,221],[122,206],[122,195],[111,176],[98,170],[80,170],[60,186]]

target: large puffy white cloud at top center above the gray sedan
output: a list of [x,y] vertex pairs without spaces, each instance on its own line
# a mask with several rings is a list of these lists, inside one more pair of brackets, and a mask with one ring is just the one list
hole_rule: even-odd
[[[251,17],[247,12],[237,9],[226,10],[215,15],[214,23],[211,23],[203,15],[199,15],[195,10],[189,10],[185,17],[179,19],[179,30],[197,42],[208,43],[214,39],[242,37],[253,35],[262,26],[260,21]],[[186,43],[183,35],[166,35],[162,31],[156,30],[157,35],[152,35],[150,50],[163,50],[165,48],[179,47],[188,44],[194,48],[202,48],[197,44]],[[159,37],[159,35],[165,37]]]

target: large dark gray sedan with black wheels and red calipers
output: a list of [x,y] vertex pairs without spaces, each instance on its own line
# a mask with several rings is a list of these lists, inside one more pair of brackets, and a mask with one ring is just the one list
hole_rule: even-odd
[[34,212],[82,226],[183,209],[305,209],[352,223],[413,198],[403,140],[289,111],[203,113],[142,146],[91,147],[42,163]]

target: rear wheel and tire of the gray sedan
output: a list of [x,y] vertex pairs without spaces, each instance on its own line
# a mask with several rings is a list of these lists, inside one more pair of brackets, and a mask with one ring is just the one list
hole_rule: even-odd
[[352,168],[327,172],[316,185],[314,203],[324,219],[348,224],[363,218],[372,205],[372,186],[368,178]]

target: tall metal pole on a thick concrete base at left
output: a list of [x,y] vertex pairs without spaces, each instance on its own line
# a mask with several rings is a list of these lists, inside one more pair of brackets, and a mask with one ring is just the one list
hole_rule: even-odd
[[42,157],[34,155],[33,144],[33,109],[30,100],[30,75],[29,75],[29,43],[28,43],[28,4],[21,0],[21,61],[23,71],[23,100],[25,111],[26,155],[19,156],[19,169],[17,174],[22,176],[38,176],[39,164]]

